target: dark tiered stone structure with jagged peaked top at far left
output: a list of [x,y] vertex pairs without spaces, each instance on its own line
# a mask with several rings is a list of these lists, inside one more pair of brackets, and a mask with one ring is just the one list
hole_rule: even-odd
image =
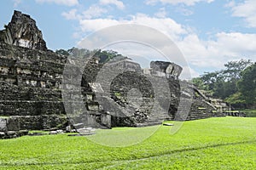
[[[46,48],[29,15],[15,11],[0,31],[0,116],[7,130],[64,127],[61,74],[66,58]],[[1,129],[0,129],[1,131]]]

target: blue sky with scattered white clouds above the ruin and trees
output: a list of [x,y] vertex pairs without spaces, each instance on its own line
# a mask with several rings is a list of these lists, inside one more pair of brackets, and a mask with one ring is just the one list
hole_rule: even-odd
[[[188,63],[177,64],[192,77],[222,69],[230,60],[256,59],[255,0],[2,0],[1,29],[15,9],[37,20],[52,50],[75,47],[95,31],[129,23],[170,38]],[[154,58],[152,52],[144,55]]]

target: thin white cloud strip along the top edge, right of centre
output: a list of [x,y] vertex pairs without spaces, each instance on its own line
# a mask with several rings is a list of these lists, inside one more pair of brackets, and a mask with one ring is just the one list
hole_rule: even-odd
[[146,4],[154,5],[156,3],[170,3],[172,5],[177,5],[183,3],[188,6],[193,6],[195,3],[212,3],[214,0],[146,0]]

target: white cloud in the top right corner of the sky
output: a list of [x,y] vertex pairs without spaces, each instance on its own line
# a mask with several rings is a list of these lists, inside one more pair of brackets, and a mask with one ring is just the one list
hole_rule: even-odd
[[243,3],[231,2],[227,4],[232,8],[232,16],[244,18],[249,27],[256,27],[256,1],[247,0]]

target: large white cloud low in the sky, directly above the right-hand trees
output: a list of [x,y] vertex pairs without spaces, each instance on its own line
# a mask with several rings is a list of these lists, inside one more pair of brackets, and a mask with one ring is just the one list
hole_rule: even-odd
[[230,60],[255,59],[256,34],[219,32],[214,37],[215,40],[202,41],[196,34],[190,34],[177,42],[177,46],[194,68],[219,69]]

